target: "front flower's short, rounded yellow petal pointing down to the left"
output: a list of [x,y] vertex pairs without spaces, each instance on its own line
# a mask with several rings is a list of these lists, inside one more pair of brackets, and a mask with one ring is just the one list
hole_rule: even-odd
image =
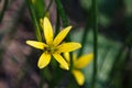
[[37,66],[38,68],[44,68],[50,64],[51,55],[48,53],[43,53],[41,57],[38,58]]

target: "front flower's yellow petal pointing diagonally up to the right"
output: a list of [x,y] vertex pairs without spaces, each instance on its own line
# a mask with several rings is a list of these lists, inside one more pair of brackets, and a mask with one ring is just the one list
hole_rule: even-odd
[[72,26],[67,26],[66,29],[62,30],[57,36],[55,37],[53,44],[54,46],[57,46],[68,34],[68,32],[70,31]]

